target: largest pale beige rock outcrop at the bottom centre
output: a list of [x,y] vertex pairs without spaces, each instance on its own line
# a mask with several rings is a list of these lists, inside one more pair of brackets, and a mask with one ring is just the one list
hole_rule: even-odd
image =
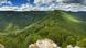
[[29,48],[60,48],[57,45],[50,39],[37,40],[35,44],[31,44]]

